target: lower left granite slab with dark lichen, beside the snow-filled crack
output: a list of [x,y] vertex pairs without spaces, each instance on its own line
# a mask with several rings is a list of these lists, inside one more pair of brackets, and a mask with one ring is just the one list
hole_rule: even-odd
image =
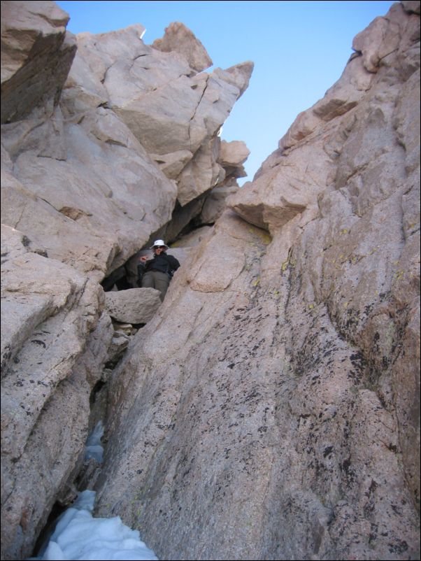
[[113,328],[98,283],[5,225],[1,253],[1,546],[3,558],[19,559],[52,505],[76,497]]

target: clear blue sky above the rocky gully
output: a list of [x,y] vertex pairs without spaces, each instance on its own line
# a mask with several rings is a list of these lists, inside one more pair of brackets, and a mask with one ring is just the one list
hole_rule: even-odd
[[[352,54],[352,39],[393,1],[57,1],[72,33],[104,33],[134,23],[148,45],[171,22],[189,27],[214,66],[252,60],[248,90],[224,124],[222,139],[242,140],[251,180],[297,115],[324,96]],[[209,71],[209,70],[207,70]]]

